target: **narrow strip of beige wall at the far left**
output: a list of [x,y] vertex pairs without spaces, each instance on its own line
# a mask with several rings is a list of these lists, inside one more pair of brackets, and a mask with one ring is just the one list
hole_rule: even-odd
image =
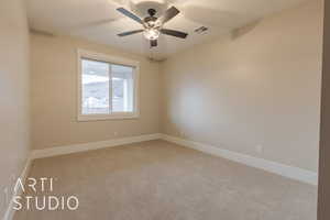
[[[0,218],[29,153],[29,32],[21,0],[0,1]],[[9,195],[10,196],[10,195]],[[9,197],[10,198],[10,197]]]

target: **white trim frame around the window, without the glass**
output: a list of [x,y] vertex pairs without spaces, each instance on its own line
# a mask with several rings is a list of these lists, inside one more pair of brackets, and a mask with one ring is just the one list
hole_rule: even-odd
[[[139,108],[139,79],[140,79],[140,63],[132,59],[127,59],[117,56],[109,56],[106,54],[95,53],[86,50],[77,50],[77,61],[78,61],[78,77],[77,77],[77,88],[78,88],[78,112],[77,120],[78,121],[99,121],[99,120],[120,120],[120,119],[138,119],[140,117],[140,108]],[[107,62],[111,64],[119,64],[125,66],[134,67],[134,103],[133,103],[133,112],[112,112],[110,114],[82,114],[81,112],[81,98],[82,98],[82,88],[81,88],[81,59],[89,58],[99,62]]]

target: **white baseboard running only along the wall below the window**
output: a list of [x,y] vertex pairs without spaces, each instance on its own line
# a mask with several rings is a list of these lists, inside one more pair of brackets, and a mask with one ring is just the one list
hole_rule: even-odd
[[162,134],[155,133],[155,134],[146,134],[146,135],[141,135],[141,136],[113,139],[113,140],[109,140],[109,141],[99,141],[99,142],[91,142],[91,143],[84,143],[84,144],[56,146],[56,147],[45,148],[45,150],[34,150],[34,151],[32,151],[31,158],[32,160],[44,158],[44,157],[51,157],[51,156],[57,156],[57,155],[64,155],[64,154],[92,151],[92,150],[98,150],[98,148],[106,148],[106,147],[118,146],[118,145],[123,145],[123,144],[138,143],[138,142],[143,142],[143,141],[152,141],[152,140],[161,139],[161,136],[162,136]]

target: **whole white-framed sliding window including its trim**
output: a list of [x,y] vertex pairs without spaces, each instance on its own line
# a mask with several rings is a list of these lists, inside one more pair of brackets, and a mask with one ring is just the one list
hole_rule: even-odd
[[139,116],[136,62],[79,51],[78,64],[78,120]]

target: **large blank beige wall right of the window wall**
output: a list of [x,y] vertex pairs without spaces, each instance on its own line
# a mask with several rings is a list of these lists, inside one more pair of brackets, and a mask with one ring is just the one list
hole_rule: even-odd
[[322,14],[309,1],[169,58],[163,131],[317,170]]

